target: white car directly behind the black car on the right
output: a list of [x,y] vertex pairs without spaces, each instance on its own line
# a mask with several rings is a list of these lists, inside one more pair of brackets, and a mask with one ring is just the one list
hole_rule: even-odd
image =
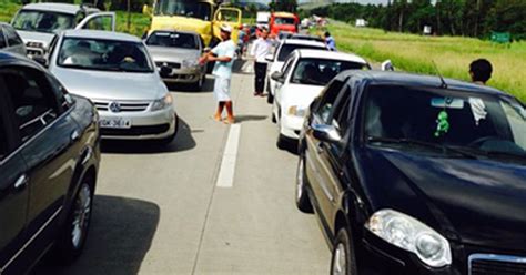
[[305,111],[325,85],[342,71],[370,70],[371,65],[354,54],[321,50],[295,50],[281,72],[271,78],[276,81],[272,119],[280,133],[277,146],[297,140]]

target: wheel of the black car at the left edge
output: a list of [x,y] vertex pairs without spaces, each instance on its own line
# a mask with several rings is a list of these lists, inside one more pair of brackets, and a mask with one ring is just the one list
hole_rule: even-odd
[[81,181],[65,224],[57,238],[54,256],[61,264],[73,262],[84,247],[93,212],[93,183],[94,180],[90,177]]

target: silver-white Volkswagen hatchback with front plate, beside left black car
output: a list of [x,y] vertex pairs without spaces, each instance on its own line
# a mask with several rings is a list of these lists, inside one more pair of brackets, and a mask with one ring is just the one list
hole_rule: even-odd
[[170,143],[175,138],[173,98],[139,38],[64,31],[50,49],[48,65],[70,93],[93,101],[103,139]]

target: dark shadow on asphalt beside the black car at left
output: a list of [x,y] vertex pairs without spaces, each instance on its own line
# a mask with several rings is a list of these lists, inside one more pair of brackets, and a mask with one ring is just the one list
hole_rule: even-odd
[[92,223],[82,255],[70,266],[44,259],[34,275],[138,274],[161,215],[151,202],[95,195]]

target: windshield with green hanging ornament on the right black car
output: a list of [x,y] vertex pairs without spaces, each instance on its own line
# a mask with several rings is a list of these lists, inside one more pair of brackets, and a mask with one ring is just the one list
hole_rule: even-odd
[[373,85],[364,131],[370,140],[526,156],[526,111],[517,101],[498,95]]

